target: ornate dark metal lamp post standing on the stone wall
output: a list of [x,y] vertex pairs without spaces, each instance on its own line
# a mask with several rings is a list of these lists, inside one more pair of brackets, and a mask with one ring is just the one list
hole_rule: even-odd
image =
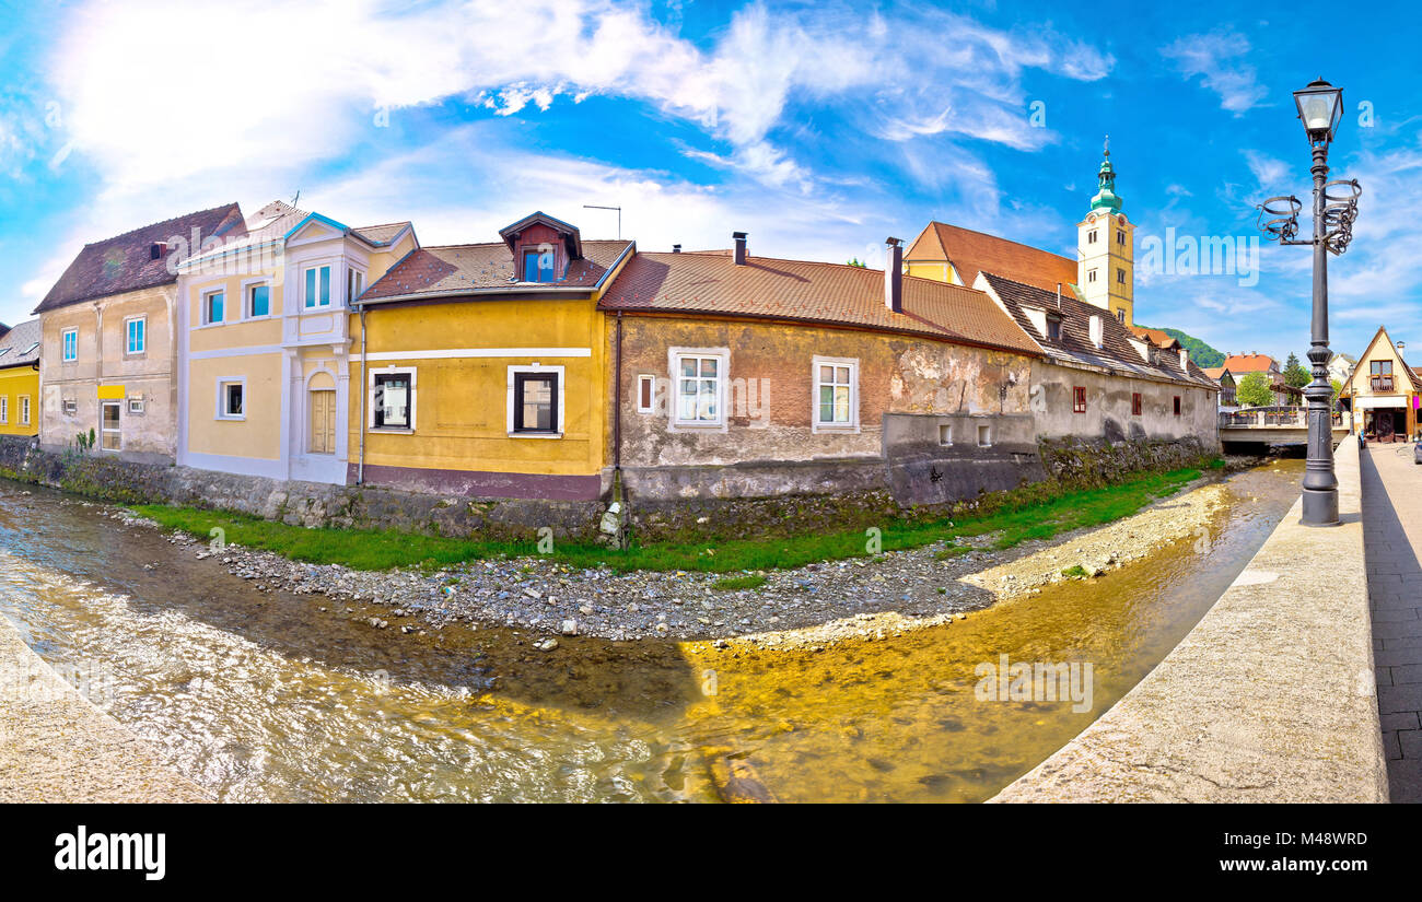
[[1314,320],[1308,361],[1314,365],[1314,381],[1304,389],[1308,398],[1308,462],[1304,469],[1305,526],[1335,526],[1338,523],[1338,477],[1332,462],[1332,416],[1328,384],[1328,253],[1341,254],[1352,240],[1352,223],[1358,219],[1358,195],[1362,186],[1355,179],[1328,179],[1328,145],[1342,118],[1342,88],[1322,78],[1307,88],[1294,91],[1298,118],[1313,148],[1314,176],[1314,237],[1298,239],[1298,212],[1303,202],[1294,196],[1270,197],[1258,205],[1258,227],[1264,236],[1280,244],[1308,244],[1314,249]]

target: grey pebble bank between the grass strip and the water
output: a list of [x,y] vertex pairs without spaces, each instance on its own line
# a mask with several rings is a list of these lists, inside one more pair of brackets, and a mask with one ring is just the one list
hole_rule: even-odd
[[[213,548],[182,533],[169,541],[260,591],[323,595],[330,604],[321,612],[360,619],[371,629],[417,632],[454,622],[508,626],[536,634],[532,642],[540,651],[555,649],[559,636],[570,635],[815,646],[940,625],[1051,582],[1105,577],[1155,548],[1203,536],[1224,507],[1224,496],[1217,483],[1193,483],[1113,524],[1005,551],[993,550],[995,537],[987,534],[960,540],[967,551],[947,551],[936,543],[758,574],[619,574],[538,557],[469,561],[437,572],[373,572],[301,564],[239,545]],[[158,528],[128,511],[112,516]],[[735,575],[762,575],[765,582],[732,591],[714,585]],[[383,611],[371,615],[370,607]]]

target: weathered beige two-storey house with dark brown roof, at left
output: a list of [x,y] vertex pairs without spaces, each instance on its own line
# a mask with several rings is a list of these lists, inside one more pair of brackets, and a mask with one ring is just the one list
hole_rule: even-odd
[[230,203],[84,246],[34,311],[44,447],[92,435],[95,453],[173,462],[173,259],[240,229]]

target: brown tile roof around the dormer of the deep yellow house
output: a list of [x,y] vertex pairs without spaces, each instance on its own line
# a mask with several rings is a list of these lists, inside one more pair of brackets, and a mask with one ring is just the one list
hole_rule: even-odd
[[[594,287],[631,241],[583,241],[583,259],[567,267],[567,278],[540,287]],[[454,244],[422,247],[392,266],[361,294],[361,301],[404,297],[458,295],[475,290],[526,288],[538,283],[513,281],[513,254],[508,244]]]

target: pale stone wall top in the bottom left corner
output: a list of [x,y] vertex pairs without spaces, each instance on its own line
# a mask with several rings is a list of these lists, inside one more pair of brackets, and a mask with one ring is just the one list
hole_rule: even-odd
[[212,801],[0,616],[0,803]]

